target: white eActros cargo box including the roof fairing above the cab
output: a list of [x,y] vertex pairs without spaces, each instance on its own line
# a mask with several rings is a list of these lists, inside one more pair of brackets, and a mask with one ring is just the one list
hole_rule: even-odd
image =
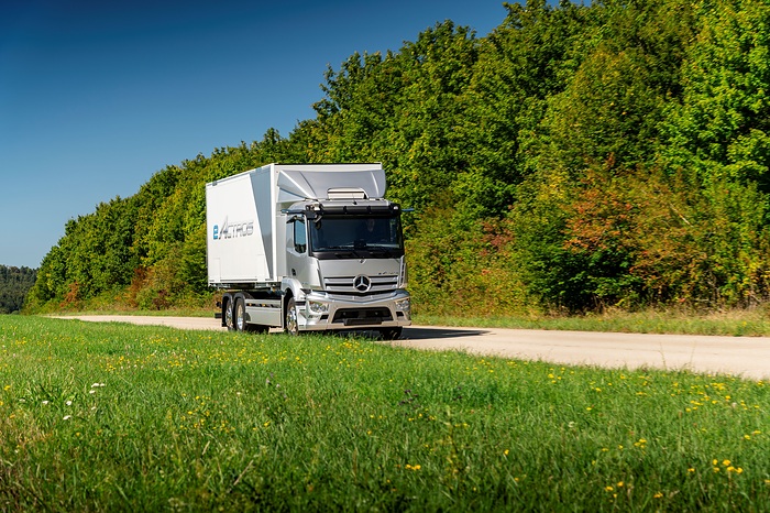
[[286,216],[297,201],[382,198],[380,163],[268,164],[206,184],[209,285],[268,284],[286,274]]

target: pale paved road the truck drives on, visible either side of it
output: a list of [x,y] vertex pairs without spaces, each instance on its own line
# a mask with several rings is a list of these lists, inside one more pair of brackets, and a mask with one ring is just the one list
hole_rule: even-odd
[[[163,325],[222,330],[220,321],[199,317],[78,316],[81,320]],[[634,335],[531,329],[446,328],[413,326],[396,346],[462,350],[522,360],[607,368],[654,368],[728,373],[770,379],[769,337]]]

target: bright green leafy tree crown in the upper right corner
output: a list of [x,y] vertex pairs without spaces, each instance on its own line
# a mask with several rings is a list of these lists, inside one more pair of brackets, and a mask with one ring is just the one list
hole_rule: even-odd
[[754,182],[770,192],[770,4],[702,1],[700,32],[688,48],[683,95],[667,128],[674,165],[701,181]]

